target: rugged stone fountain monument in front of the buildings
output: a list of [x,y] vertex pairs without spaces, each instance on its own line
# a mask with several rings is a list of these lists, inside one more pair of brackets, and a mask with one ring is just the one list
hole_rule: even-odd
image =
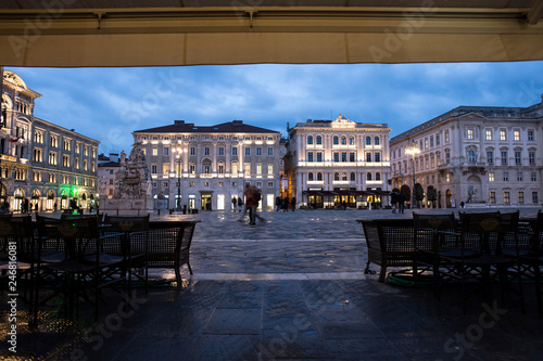
[[128,159],[121,153],[119,169],[115,173],[113,198],[101,207],[105,212],[144,215],[153,211],[151,173],[140,144],[135,144]]

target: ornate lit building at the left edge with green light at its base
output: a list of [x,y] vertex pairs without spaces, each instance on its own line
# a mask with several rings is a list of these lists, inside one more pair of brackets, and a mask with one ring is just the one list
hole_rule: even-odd
[[0,196],[11,210],[28,199],[40,211],[91,208],[100,142],[34,116],[41,96],[13,72],[3,72]]

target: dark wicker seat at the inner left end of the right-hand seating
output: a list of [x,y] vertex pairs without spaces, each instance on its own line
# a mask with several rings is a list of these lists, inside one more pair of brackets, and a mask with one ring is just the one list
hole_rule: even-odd
[[[416,259],[413,219],[358,219],[368,247],[364,273],[370,273],[369,263],[381,266],[379,282],[384,282],[387,267],[413,267]],[[418,249],[431,249],[431,242],[418,244]]]

